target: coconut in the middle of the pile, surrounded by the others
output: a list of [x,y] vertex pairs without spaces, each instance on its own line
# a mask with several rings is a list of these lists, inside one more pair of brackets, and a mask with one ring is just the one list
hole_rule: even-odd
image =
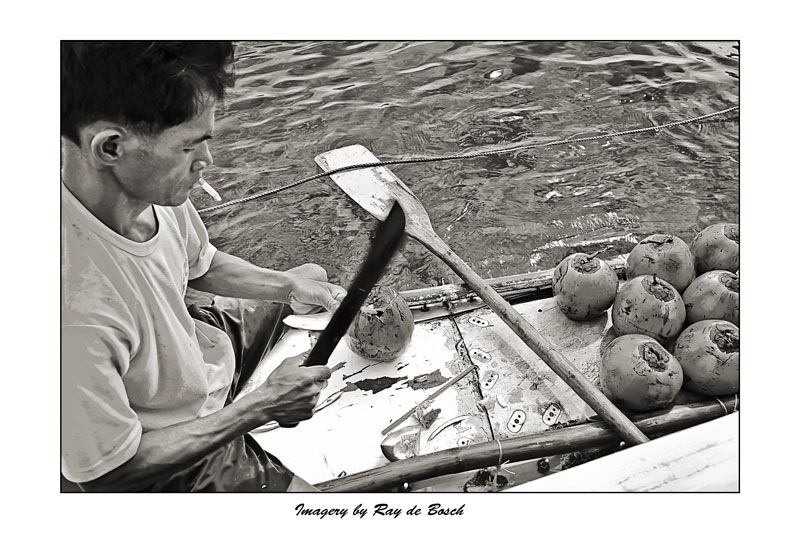
[[618,334],[639,333],[662,344],[678,336],[685,319],[680,293],[656,275],[624,283],[611,308],[611,323]]

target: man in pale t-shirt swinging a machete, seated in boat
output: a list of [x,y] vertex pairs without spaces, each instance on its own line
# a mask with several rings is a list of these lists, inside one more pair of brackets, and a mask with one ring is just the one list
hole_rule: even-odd
[[[310,418],[330,370],[290,358],[231,399],[289,305],[345,291],[216,250],[188,200],[232,60],[230,43],[62,43],[62,473],[83,490],[313,490],[247,432]],[[265,302],[187,309],[187,284]]]

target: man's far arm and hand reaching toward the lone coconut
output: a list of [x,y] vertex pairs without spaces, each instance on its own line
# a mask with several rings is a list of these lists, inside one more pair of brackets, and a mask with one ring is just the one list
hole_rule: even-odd
[[[322,268],[319,270],[324,272]],[[258,267],[217,250],[208,271],[190,281],[189,286],[220,296],[267,300],[293,306],[321,306],[329,311],[333,311],[344,298],[346,291],[343,288],[299,272],[300,269],[280,272]]]

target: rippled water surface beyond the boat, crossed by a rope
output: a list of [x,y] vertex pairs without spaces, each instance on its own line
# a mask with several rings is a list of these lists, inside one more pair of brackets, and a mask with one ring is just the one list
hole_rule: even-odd
[[[236,67],[206,176],[225,200],[315,174],[317,154],[349,144],[384,159],[440,155],[739,104],[735,42],[245,42]],[[738,222],[739,120],[392,171],[478,274],[517,274]],[[204,218],[222,250],[278,269],[314,261],[345,286],[376,224],[330,178]],[[457,277],[408,241],[383,283],[442,280]]]

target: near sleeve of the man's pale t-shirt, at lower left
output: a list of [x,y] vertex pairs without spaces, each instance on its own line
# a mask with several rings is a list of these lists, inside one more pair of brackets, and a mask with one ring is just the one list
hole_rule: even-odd
[[107,326],[63,326],[61,343],[61,468],[70,481],[85,483],[139,448],[142,425],[122,382],[130,349]]

